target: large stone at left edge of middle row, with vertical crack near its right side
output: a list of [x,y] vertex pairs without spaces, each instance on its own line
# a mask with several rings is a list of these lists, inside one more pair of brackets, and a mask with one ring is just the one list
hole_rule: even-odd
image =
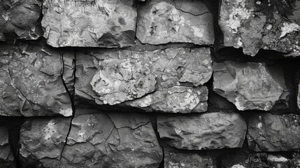
[[0,45],[0,52],[1,116],[72,115],[72,52],[26,43]]

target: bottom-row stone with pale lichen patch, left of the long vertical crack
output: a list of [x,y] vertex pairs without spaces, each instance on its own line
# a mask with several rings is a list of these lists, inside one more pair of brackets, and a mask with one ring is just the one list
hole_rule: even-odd
[[20,132],[20,160],[24,167],[54,167],[61,158],[70,124],[71,118],[26,119]]

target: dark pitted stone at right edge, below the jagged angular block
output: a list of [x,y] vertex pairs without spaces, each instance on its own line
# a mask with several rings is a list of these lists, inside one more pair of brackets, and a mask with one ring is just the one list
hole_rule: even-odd
[[250,118],[248,144],[254,151],[299,151],[300,117],[262,113]]

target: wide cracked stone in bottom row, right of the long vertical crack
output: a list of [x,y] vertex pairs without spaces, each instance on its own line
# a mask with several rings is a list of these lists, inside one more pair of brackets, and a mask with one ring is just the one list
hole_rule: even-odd
[[162,148],[149,118],[90,109],[76,112],[87,114],[72,121],[63,167],[159,167]]

